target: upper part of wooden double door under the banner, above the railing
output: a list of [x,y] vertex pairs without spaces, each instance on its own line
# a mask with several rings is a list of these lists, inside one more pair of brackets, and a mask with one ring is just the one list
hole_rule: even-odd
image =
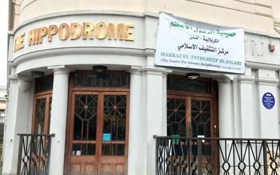
[[167,98],[167,135],[214,137],[213,99],[207,97]]

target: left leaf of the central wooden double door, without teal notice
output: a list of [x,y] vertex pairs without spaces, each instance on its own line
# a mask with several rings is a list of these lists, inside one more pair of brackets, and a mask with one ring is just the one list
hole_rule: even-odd
[[73,92],[69,133],[69,174],[97,174],[99,95]]

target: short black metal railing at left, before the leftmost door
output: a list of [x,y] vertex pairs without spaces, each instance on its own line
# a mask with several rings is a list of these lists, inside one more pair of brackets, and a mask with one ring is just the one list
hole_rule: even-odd
[[17,174],[48,174],[50,163],[51,137],[55,134],[18,134],[20,145],[18,150]]

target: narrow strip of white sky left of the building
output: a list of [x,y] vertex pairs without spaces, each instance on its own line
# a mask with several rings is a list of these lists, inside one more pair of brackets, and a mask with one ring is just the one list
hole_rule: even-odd
[[0,86],[7,82],[8,0],[0,1]]

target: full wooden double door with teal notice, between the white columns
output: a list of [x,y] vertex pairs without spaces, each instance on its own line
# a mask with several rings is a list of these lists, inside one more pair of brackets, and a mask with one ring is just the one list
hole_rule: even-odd
[[72,92],[68,174],[127,174],[128,92]]

